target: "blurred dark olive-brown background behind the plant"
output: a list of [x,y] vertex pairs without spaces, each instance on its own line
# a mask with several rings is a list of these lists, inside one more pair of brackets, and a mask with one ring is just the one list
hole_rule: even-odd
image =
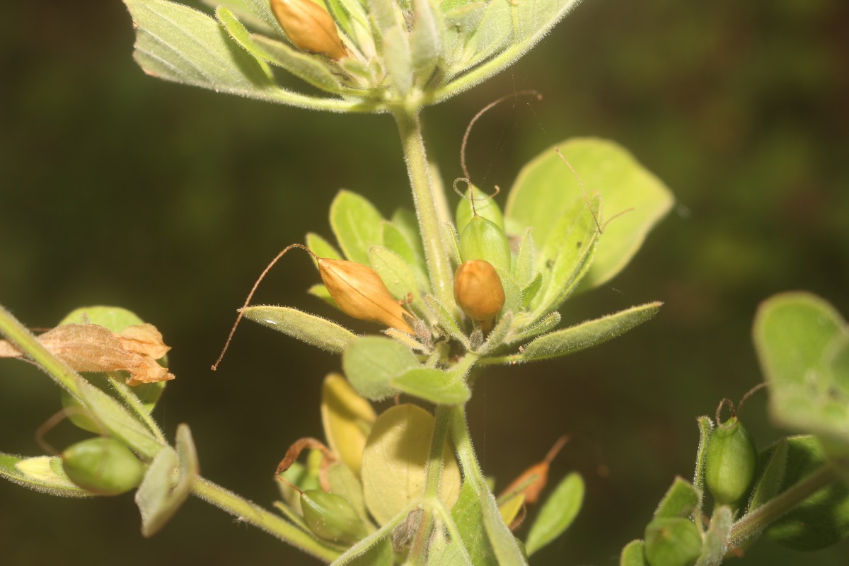
[[[509,187],[549,145],[595,135],[631,149],[678,198],[627,271],[564,310],[575,322],[663,300],[660,316],[596,350],[494,370],[469,406],[481,461],[502,482],[560,434],[592,439],[554,463],[554,481],[580,470],[588,494],[534,563],[615,564],[642,536],[673,477],[693,473],[695,417],[761,379],[759,301],[810,289],[849,313],[847,31],[841,0],[592,0],[511,70],[425,111],[430,154],[453,178],[475,112],[536,88],[543,102],[503,105],[476,126],[481,184]],[[189,423],[205,476],[270,505],[290,442],[321,435],[319,384],[340,361],[246,323],[209,367],[267,261],[309,230],[329,236],[339,188],[385,215],[410,205],[391,119],[146,77],[118,0],[4,3],[0,42],[0,302],[31,328],[94,304],[155,323],[177,374],[160,423],[170,437]],[[317,280],[306,255],[290,255],[256,302],[328,314],[303,292]],[[745,413],[761,446],[779,435],[764,406],[757,395]],[[48,378],[0,361],[0,450],[42,453],[34,430],[58,409]],[[48,441],[75,434],[65,423]],[[315,563],[198,500],[144,540],[131,496],[58,500],[5,482],[0,552],[9,564]],[[836,565],[847,553],[845,542],[804,555],[761,541],[740,562]]]

